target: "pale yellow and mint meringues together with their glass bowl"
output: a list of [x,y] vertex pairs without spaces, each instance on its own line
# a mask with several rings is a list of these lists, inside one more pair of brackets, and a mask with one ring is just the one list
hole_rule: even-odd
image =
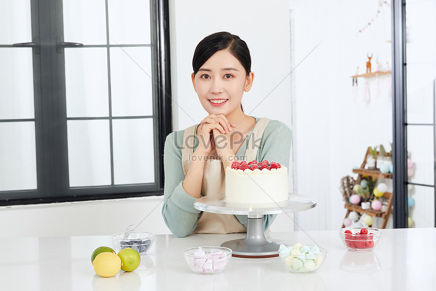
[[305,274],[318,270],[327,257],[327,250],[316,245],[297,243],[293,246],[280,245],[278,254],[286,270]]

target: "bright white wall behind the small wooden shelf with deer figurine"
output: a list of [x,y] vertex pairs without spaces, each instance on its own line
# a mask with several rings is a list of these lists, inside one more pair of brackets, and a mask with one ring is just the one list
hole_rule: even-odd
[[364,33],[378,1],[290,1],[295,33],[296,68],[294,113],[295,191],[314,197],[318,206],[296,215],[304,230],[335,230],[345,217],[340,179],[359,167],[368,146],[392,141],[390,81],[369,80],[370,103],[364,102],[365,80],[358,80],[354,100],[350,76],[359,67],[365,73],[367,53],[374,53],[373,67],[391,62],[390,10],[381,8],[377,21]]

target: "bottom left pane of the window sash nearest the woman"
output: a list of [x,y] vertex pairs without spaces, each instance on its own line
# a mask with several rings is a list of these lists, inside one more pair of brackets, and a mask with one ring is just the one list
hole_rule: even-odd
[[111,184],[108,120],[68,120],[70,187]]

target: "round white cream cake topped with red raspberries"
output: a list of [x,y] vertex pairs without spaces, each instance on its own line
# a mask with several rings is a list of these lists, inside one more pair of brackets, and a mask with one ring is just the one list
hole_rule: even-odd
[[277,203],[288,200],[287,168],[274,161],[234,161],[226,168],[226,201]]

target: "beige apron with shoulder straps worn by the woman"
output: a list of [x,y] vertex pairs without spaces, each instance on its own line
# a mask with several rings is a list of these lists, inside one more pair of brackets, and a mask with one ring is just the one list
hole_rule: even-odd
[[[261,118],[253,128],[248,142],[245,157],[247,161],[256,159],[260,137],[270,119]],[[191,165],[194,153],[194,137],[196,136],[197,124],[188,127],[183,135],[183,147],[181,150],[181,165],[185,176]],[[256,145],[254,143],[256,142]],[[220,159],[208,159],[204,161],[203,180],[201,184],[201,196],[220,196],[226,190],[226,174]],[[235,215],[202,212],[197,221],[197,227],[193,233],[203,234],[230,234],[243,233],[246,228],[239,222]]]

